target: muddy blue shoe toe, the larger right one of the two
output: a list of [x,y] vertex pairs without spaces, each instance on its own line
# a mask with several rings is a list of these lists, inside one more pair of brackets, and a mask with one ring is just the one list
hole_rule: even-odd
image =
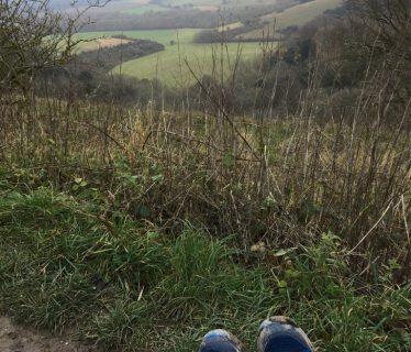
[[313,352],[307,334],[287,317],[271,317],[259,326],[258,352]]

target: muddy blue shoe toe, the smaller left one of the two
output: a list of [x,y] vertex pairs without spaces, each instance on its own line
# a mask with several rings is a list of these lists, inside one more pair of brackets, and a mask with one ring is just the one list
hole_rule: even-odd
[[211,330],[203,337],[200,352],[241,352],[241,343],[229,331]]

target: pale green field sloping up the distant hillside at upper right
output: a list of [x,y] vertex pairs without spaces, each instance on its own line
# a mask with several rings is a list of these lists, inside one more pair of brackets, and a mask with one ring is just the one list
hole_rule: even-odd
[[282,12],[266,14],[262,20],[270,22],[269,24],[264,29],[251,31],[242,36],[245,38],[260,38],[263,31],[264,33],[273,32],[274,23],[276,23],[276,30],[290,25],[303,25],[324,13],[324,11],[338,7],[342,2],[342,0],[314,0],[295,6]]

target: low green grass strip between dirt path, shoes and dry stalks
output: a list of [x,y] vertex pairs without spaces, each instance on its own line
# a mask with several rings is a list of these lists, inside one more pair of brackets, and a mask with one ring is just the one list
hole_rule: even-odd
[[170,238],[121,208],[103,219],[105,196],[88,187],[62,193],[2,176],[0,309],[18,321],[75,327],[104,349],[193,351],[216,327],[254,345],[258,322],[284,314],[318,351],[411,346],[410,286],[391,285],[387,268],[359,290],[331,233],[298,251],[241,251],[234,238],[189,224]]

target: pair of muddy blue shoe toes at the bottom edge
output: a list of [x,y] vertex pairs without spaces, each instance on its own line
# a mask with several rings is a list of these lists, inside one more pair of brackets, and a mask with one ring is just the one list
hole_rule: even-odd
[[[307,334],[287,317],[271,317],[262,322],[257,340],[258,352],[313,352]],[[241,352],[241,342],[225,330],[212,330],[204,336],[200,352]]]

